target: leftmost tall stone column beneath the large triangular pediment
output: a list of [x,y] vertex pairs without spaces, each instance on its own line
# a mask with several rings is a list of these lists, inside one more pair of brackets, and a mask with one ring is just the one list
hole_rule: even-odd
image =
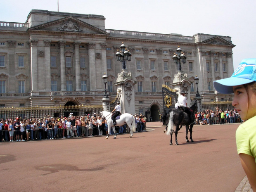
[[30,40],[32,95],[38,95],[39,93],[38,92],[37,43],[38,43],[38,40]]

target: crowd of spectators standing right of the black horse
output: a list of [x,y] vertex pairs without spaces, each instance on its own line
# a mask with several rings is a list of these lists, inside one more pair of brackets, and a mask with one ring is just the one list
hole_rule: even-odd
[[195,114],[195,120],[197,125],[214,125],[225,123],[242,123],[239,113],[236,109],[223,111],[223,109],[216,108],[213,110],[206,110],[203,112],[197,112]]

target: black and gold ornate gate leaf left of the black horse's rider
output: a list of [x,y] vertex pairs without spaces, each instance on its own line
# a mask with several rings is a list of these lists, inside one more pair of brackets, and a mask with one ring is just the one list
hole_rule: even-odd
[[169,88],[167,85],[162,85],[164,113],[175,109],[174,105],[177,102],[176,90]]

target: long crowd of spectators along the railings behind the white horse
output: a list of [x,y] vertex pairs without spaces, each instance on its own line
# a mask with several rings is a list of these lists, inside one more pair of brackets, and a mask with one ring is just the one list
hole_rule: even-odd
[[[142,114],[135,114],[136,131],[146,131],[146,118]],[[116,127],[116,132],[129,133],[126,125]],[[30,140],[53,140],[71,137],[92,137],[107,135],[108,127],[106,119],[100,114],[85,114],[85,116],[69,117],[50,115],[43,119],[17,117],[16,119],[1,119],[0,142],[19,142]],[[113,129],[111,133],[114,134]]]

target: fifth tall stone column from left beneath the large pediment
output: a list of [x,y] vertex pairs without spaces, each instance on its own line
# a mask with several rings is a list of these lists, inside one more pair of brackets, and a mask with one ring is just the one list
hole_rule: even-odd
[[[95,69],[95,43],[88,43],[88,54],[89,54],[89,80],[90,80],[90,90],[96,88],[96,69]],[[95,90],[93,90],[95,91]]]

